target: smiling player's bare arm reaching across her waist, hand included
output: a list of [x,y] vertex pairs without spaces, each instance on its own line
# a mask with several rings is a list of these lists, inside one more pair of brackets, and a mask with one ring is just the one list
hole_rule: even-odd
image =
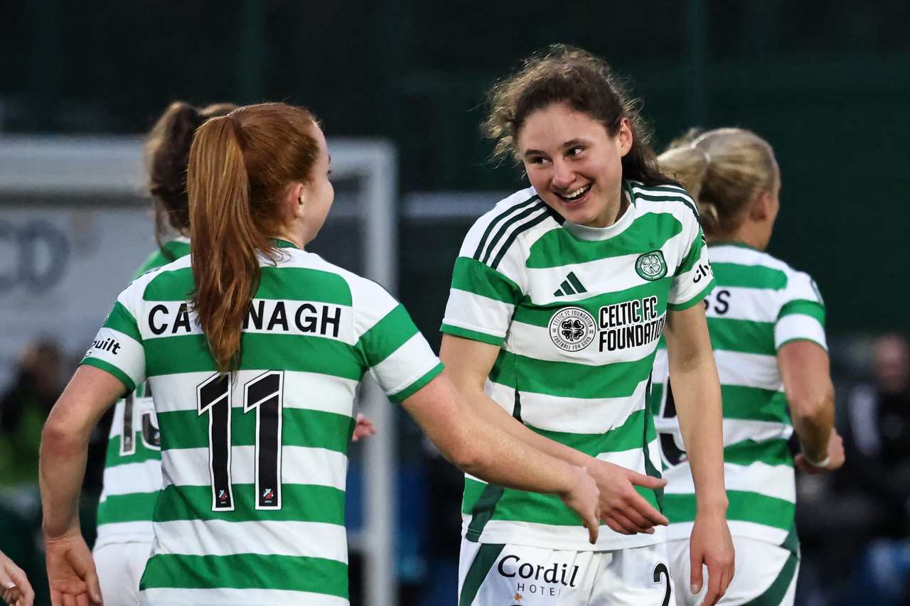
[[595,459],[559,442],[544,438],[525,427],[484,393],[484,384],[499,352],[500,348],[488,343],[449,334],[442,336],[440,359],[446,365],[445,374],[470,404],[471,409],[481,418],[521,439],[534,449],[572,465],[587,468],[601,492],[601,520],[611,530],[622,534],[652,533],[655,525],[668,524],[666,517],[635,490],[635,486],[659,489],[666,485],[666,480],[652,478]]

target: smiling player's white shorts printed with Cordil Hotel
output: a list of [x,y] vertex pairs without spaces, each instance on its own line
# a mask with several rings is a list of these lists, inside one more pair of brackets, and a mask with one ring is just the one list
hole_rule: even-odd
[[459,606],[668,606],[666,545],[550,550],[461,539]]

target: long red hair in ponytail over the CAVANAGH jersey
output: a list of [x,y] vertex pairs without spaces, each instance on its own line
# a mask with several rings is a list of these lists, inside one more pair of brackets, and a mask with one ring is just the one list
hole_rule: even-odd
[[305,109],[267,103],[211,118],[193,140],[187,170],[193,303],[219,371],[239,366],[241,324],[259,286],[258,253],[278,259],[270,237],[282,226],[287,187],[312,177],[319,157],[314,126]]

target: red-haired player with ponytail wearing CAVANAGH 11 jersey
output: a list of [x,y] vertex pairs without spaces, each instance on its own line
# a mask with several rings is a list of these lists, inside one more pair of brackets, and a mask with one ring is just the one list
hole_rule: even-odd
[[334,197],[307,111],[265,104],[209,119],[187,184],[191,255],[126,288],[45,425],[55,605],[101,600],[76,516],[86,440],[146,379],[164,482],[142,604],[348,603],[346,452],[368,370],[450,460],[559,494],[596,540],[598,490],[583,469],[472,414],[394,298],[304,251]]

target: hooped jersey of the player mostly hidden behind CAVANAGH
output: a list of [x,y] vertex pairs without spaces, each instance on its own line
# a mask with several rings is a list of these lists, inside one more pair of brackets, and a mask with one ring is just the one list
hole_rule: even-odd
[[[156,250],[137,270],[167,265],[189,254],[189,240],[178,237]],[[167,258],[165,256],[169,258]],[[95,546],[146,542],[155,539],[152,508],[161,488],[161,446],[155,406],[145,385],[117,400],[107,440],[104,489],[98,502],[98,536]]]

